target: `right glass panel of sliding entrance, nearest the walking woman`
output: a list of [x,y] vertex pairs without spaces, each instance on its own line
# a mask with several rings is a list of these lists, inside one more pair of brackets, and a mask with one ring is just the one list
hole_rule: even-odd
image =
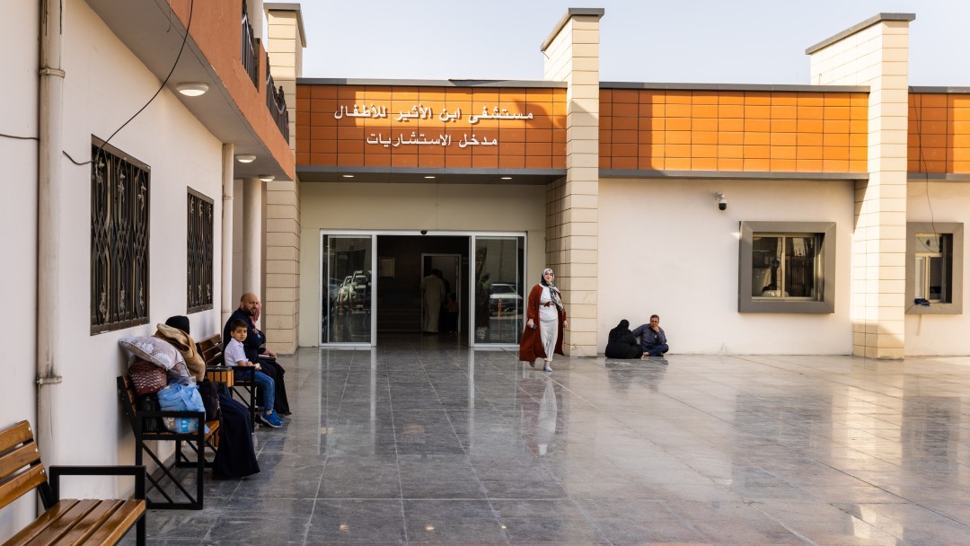
[[472,236],[471,345],[514,345],[526,312],[526,238]]

